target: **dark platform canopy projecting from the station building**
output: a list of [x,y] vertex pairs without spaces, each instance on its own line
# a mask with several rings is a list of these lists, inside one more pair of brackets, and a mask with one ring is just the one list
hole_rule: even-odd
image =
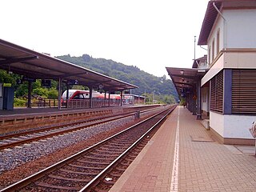
[[178,94],[182,94],[182,90],[195,89],[198,81],[206,74],[206,69],[187,69],[166,67],[170,78],[174,82],[174,86]]

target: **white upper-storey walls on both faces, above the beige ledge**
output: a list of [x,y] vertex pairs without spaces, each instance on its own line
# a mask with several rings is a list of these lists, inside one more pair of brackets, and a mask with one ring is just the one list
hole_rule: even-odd
[[[218,54],[218,30],[220,30],[219,50],[223,48],[256,48],[256,10],[223,10],[222,14],[226,22],[224,22],[222,17],[218,16],[208,38],[208,50],[210,48],[210,53],[208,53],[209,63],[211,63]],[[213,41],[214,57],[212,55]]]

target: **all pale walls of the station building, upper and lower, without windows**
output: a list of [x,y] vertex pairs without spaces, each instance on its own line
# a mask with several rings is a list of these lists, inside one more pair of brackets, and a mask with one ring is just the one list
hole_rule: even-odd
[[[207,40],[208,63],[216,58],[217,53],[217,33],[219,33],[219,50],[227,49],[246,49],[256,48],[256,10],[223,10],[222,14],[226,19],[218,15],[212,31]],[[214,41],[214,57],[212,55],[212,43]],[[210,54],[210,61],[209,61]],[[237,52],[224,53],[218,61],[210,67],[210,70],[202,78],[202,86],[210,81],[214,75],[218,74],[223,68],[237,69],[247,68],[255,69],[255,52]],[[202,110],[204,110],[202,102]],[[253,115],[223,115],[210,111],[210,127],[215,130],[222,138],[253,138],[249,128],[252,122],[256,121]]]

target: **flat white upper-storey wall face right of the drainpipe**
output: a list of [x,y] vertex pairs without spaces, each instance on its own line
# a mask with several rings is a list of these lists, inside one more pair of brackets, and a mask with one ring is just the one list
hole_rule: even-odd
[[256,48],[256,10],[224,10],[227,48]]

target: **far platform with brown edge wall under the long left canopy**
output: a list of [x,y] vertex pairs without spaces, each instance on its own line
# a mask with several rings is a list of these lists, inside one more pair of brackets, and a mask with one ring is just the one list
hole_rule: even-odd
[[14,108],[14,110],[0,110],[0,134],[11,131],[24,130],[38,126],[50,126],[56,123],[74,122],[83,118],[98,115],[120,114],[136,110],[146,110],[152,106],[109,106],[94,108]]

